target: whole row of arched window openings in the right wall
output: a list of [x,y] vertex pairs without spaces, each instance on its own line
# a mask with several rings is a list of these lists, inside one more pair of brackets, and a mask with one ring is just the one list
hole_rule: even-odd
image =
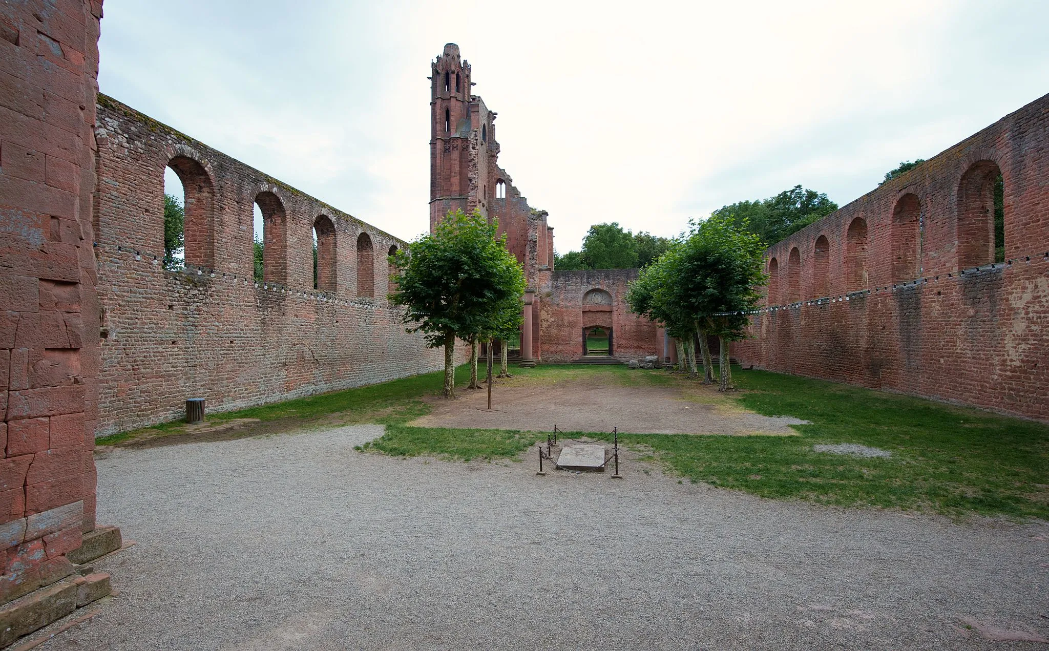
[[[980,160],[962,175],[958,189],[957,258],[959,268],[981,266],[1005,259],[1005,183],[992,160]],[[921,199],[907,193],[897,199],[890,221],[892,282],[905,282],[922,274],[926,219]],[[842,291],[869,285],[868,223],[856,217],[845,231],[842,255]],[[769,302],[792,303],[831,294],[831,242],[820,234],[808,259],[812,264],[812,287],[802,296],[801,249],[790,249],[783,274],[776,258],[769,260]],[[786,294],[780,296],[782,283]]]

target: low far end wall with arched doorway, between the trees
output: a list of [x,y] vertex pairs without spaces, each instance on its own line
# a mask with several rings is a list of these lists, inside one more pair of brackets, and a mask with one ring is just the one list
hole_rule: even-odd
[[[571,362],[583,354],[582,329],[612,327],[612,356],[637,360],[656,354],[656,324],[630,313],[626,290],[638,269],[596,269],[549,274],[542,287],[542,362]],[[584,302],[587,292],[606,291],[611,302]]]

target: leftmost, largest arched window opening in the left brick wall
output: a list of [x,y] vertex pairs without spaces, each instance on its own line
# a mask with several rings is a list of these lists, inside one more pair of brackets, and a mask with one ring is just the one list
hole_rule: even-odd
[[[181,185],[181,233],[180,241],[176,233],[177,211],[170,212],[172,237],[168,237],[168,173],[165,172],[165,266],[168,266],[168,246],[172,245],[170,268],[181,268],[181,261],[194,266],[214,267],[215,266],[215,220],[214,220],[214,186],[211,176],[204,166],[192,158],[186,156],[175,156],[168,161],[167,166]],[[172,182],[172,185],[174,185]],[[177,187],[177,186],[176,186]],[[174,189],[173,189],[174,190]],[[171,195],[177,201],[179,193],[175,191]],[[181,247],[181,256],[177,255],[177,248]]]

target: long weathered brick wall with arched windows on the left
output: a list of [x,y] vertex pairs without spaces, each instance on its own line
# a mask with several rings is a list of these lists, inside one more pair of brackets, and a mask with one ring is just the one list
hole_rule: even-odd
[[[181,417],[189,397],[231,410],[443,367],[442,351],[405,333],[386,299],[387,255],[402,240],[104,95],[97,139],[100,434]],[[163,265],[168,165],[186,187],[181,272]],[[331,225],[319,242],[326,290],[313,288],[312,230],[322,219]]]

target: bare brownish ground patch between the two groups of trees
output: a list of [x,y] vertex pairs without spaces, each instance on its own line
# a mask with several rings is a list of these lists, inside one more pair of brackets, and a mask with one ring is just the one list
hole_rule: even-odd
[[[686,391],[709,402],[689,399]],[[430,413],[410,425],[533,432],[548,432],[556,425],[562,432],[611,432],[615,427],[635,434],[796,436],[790,426],[809,422],[747,411],[718,395],[716,389],[695,383],[652,386],[638,381],[624,386],[597,374],[559,382],[518,377],[493,385],[492,407],[498,411],[480,411],[488,406],[487,391],[457,389],[456,394],[457,400],[427,398]]]

